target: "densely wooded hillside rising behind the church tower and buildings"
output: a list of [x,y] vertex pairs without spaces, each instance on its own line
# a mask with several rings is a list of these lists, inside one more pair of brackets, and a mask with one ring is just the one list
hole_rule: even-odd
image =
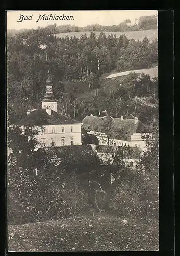
[[[9,120],[40,106],[49,69],[58,108],[62,108],[65,115],[82,120],[87,114],[106,108],[113,116],[136,113],[148,121],[155,118],[155,108],[148,103],[144,108],[135,97],[148,97],[147,101],[157,103],[156,78],[152,80],[143,75],[139,79],[137,74],[132,74],[122,78],[123,83],[115,79],[115,90],[108,93],[101,78],[111,71],[149,68],[157,62],[157,39],[149,42],[145,37],[140,42],[123,34],[119,38],[115,33],[106,36],[102,31],[99,36],[91,32],[90,37],[85,34],[80,38],[56,38],[49,27],[9,35]],[[113,80],[110,84],[112,87]]]

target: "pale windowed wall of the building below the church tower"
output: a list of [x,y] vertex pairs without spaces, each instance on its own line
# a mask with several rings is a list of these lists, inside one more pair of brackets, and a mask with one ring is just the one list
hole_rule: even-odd
[[[64,146],[71,145],[71,138],[73,138],[73,145],[81,145],[81,124],[64,124],[64,125],[44,125],[45,133],[42,131],[36,136],[39,141],[39,146],[43,145],[45,140],[45,146],[52,145],[52,139],[54,139],[55,146],[62,146],[61,139],[64,139]],[[64,127],[64,132],[62,128]],[[71,127],[73,131],[71,132]],[[38,129],[38,127],[37,127]]]

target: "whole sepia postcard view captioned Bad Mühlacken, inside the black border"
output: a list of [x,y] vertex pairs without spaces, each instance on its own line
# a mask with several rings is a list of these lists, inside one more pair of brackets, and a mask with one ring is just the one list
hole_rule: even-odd
[[6,15],[8,251],[158,251],[158,11]]

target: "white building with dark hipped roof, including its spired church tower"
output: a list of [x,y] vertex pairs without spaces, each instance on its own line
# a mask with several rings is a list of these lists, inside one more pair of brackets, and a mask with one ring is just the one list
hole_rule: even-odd
[[42,108],[27,111],[27,116],[18,122],[21,126],[34,126],[38,147],[81,145],[82,123],[57,112],[57,101],[52,92],[50,75],[46,81],[46,92]]

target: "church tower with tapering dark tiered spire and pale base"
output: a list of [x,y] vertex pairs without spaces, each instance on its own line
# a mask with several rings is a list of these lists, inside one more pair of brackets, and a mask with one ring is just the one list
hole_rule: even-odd
[[52,80],[50,79],[50,71],[48,71],[48,78],[46,81],[46,92],[42,102],[42,109],[51,109],[57,112],[57,101],[54,99],[52,91]]

